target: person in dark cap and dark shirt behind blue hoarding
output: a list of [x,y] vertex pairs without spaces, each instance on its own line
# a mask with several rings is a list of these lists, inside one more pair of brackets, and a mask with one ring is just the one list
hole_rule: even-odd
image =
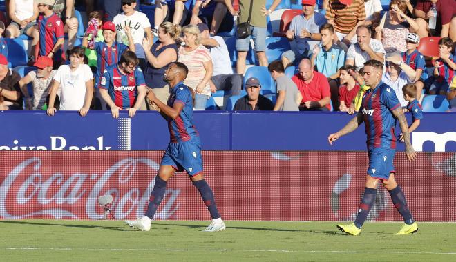
[[234,105],[234,111],[251,111],[251,110],[273,110],[272,102],[260,94],[260,81],[255,77],[250,77],[245,82],[247,95],[241,97]]

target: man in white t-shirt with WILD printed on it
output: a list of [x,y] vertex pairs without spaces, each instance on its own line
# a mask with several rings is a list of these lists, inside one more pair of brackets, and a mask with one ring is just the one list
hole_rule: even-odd
[[129,26],[133,43],[135,43],[136,56],[140,59],[140,68],[142,71],[146,67],[146,55],[144,49],[142,49],[142,39],[144,37],[149,40],[149,45],[153,44],[153,36],[151,31],[151,22],[146,17],[146,14],[135,11],[136,1],[135,0],[122,0],[122,10],[124,12],[117,14],[113,18],[115,29],[117,30],[117,42],[124,43],[129,46],[129,39],[126,37],[124,26]]

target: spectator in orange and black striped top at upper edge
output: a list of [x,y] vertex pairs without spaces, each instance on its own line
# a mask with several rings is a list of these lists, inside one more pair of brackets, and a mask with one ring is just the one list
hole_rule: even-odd
[[363,0],[329,0],[325,17],[334,26],[336,36],[349,45],[357,42],[357,27],[365,20]]

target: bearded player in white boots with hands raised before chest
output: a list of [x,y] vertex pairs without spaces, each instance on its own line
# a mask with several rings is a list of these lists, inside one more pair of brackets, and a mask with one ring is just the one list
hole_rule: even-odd
[[207,209],[211,213],[212,222],[205,231],[225,230],[225,223],[218,212],[213,192],[207,184],[202,172],[201,143],[196,128],[193,126],[193,92],[184,85],[189,70],[183,63],[174,62],[164,71],[164,81],[172,88],[171,95],[165,105],[149,92],[147,98],[160,109],[160,114],[168,121],[171,141],[164,152],[155,185],[151,193],[146,214],[140,219],[126,220],[125,223],[143,231],[151,229],[153,215],[162,202],[167,182],[176,172],[187,171],[191,182],[201,194]]

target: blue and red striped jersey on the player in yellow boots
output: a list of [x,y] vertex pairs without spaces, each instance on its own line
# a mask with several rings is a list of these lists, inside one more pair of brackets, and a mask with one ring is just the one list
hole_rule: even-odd
[[380,82],[377,87],[365,92],[361,104],[368,147],[396,148],[396,118],[392,110],[401,108],[395,90]]

